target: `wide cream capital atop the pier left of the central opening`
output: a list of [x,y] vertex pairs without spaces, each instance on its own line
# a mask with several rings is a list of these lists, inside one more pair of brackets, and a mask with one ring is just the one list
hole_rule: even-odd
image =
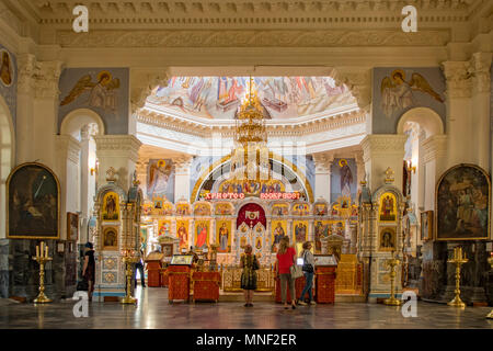
[[128,157],[138,161],[138,151],[142,143],[134,135],[95,135],[96,152],[111,154],[114,157]]

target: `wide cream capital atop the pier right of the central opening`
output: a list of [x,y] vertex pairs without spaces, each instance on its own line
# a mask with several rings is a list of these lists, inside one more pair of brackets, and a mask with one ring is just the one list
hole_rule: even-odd
[[369,134],[360,143],[363,160],[368,162],[378,155],[403,155],[406,138],[401,134]]

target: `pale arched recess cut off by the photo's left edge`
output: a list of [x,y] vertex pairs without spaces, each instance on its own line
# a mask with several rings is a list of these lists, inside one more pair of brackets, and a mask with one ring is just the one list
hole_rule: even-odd
[[12,115],[0,95],[0,239],[7,237],[7,179],[15,162],[15,133]]

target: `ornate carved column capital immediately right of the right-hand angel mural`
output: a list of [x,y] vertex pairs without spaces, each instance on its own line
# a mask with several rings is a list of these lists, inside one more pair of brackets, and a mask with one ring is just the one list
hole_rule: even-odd
[[445,61],[442,63],[447,91],[449,98],[470,98],[472,91],[472,79],[469,61]]

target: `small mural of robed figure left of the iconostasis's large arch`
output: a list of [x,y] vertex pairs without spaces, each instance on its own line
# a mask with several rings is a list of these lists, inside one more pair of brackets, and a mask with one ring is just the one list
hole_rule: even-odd
[[171,159],[150,159],[147,168],[147,196],[174,202],[174,165]]

